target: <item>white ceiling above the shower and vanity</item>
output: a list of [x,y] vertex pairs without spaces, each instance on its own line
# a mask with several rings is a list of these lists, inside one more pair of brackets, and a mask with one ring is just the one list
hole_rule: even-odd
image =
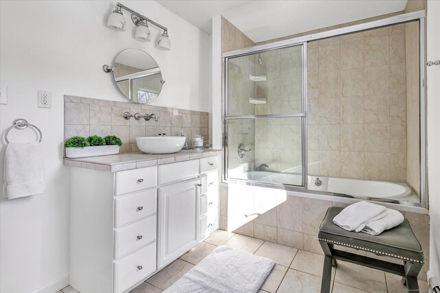
[[399,12],[407,0],[156,0],[211,34],[223,15],[255,43],[322,27]]

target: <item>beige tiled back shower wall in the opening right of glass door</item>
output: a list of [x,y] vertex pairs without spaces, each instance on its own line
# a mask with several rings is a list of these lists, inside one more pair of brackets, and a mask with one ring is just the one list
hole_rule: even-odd
[[307,71],[309,174],[405,182],[405,26],[308,43]]

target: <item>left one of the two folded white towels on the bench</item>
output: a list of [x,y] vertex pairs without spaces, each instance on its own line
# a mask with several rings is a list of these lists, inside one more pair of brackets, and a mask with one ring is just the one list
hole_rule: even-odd
[[370,220],[378,220],[384,217],[385,207],[371,202],[356,202],[343,209],[333,223],[347,231],[361,231]]

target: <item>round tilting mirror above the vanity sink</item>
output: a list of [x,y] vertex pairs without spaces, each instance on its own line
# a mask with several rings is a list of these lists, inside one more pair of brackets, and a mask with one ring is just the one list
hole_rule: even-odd
[[153,102],[164,80],[156,61],[140,49],[125,49],[113,63],[113,77],[121,93],[131,102]]

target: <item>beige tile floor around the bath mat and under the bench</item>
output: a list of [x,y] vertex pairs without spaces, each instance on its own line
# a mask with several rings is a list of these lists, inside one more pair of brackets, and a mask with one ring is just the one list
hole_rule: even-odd
[[[276,265],[259,293],[320,292],[323,255],[217,230],[208,239],[170,263],[166,268],[131,290],[130,293],[159,293],[166,290],[212,250],[222,244],[275,261]],[[331,292],[333,293],[407,292],[406,287],[401,284],[401,277],[395,274],[388,274],[343,261],[339,261],[338,268],[333,269],[332,280]],[[420,292],[428,292],[428,283],[419,281],[419,288]],[[78,291],[66,287],[61,292],[76,293]]]

